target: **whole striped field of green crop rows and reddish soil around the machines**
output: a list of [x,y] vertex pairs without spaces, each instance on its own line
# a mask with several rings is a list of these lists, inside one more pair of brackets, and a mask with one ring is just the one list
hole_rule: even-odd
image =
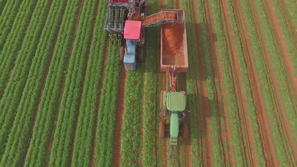
[[161,9],[186,16],[176,162],[159,137],[160,26],[126,71],[106,0],[0,0],[0,166],[297,166],[296,1],[150,0]]

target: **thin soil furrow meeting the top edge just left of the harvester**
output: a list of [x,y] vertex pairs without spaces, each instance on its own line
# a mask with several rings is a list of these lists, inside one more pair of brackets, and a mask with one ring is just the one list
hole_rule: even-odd
[[96,19],[97,19],[97,16],[98,16],[98,9],[99,9],[99,1],[97,2],[97,7],[96,7],[96,11],[95,11],[95,16],[94,16],[94,19],[93,19],[93,26],[92,26],[92,32],[91,32],[91,39],[90,39],[90,42],[89,42],[89,48],[88,48],[88,55],[87,55],[87,59],[86,59],[86,65],[85,65],[85,72],[84,72],[83,85],[82,85],[82,88],[81,88],[81,97],[80,97],[80,102],[79,102],[79,106],[78,106],[78,114],[77,114],[77,118],[76,118],[75,129],[74,129],[74,131],[73,131],[72,145],[71,145],[71,148],[70,148],[70,161],[69,161],[69,166],[72,166],[73,149],[74,149],[75,138],[76,138],[77,129],[78,129],[78,123],[79,123],[79,117],[80,117],[80,108],[81,108],[81,105],[82,105],[82,98],[83,98],[83,92],[84,92],[84,88],[85,88],[85,81],[86,81],[87,69],[88,69],[89,58],[90,58],[90,53],[91,53],[91,46],[92,46],[93,38],[94,38],[94,31],[95,31]]

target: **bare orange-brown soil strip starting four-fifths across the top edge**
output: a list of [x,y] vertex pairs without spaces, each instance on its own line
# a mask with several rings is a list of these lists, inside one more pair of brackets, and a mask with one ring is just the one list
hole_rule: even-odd
[[236,20],[237,20],[238,26],[240,30],[243,31],[243,33],[240,34],[240,38],[243,46],[246,46],[246,47],[243,47],[243,50],[245,53],[245,60],[246,60],[247,68],[249,72],[248,77],[250,80],[251,89],[253,90],[252,96],[253,96],[254,105],[257,111],[256,115],[257,115],[257,121],[259,124],[259,131],[260,131],[262,146],[263,146],[263,154],[269,155],[269,156],[265,156],[266,165],[278,166],[274,144],[272,141],[272,135],[269,128],[269,122],[268,122],[269,119],[266,114],[267,111],[265,109],[263,95],[261,94],[261,90],[258,86],[260,85],[260,81],[258,79],[259,77],[258,77],[256,66],[253,63],[255,61],[252,55],[251,42],[248,37],[248,31],[247,31],[245,19],[242,13],[241,4],[239,0],[233,0],[233,5],[234,5],[234,11],[237,14]]

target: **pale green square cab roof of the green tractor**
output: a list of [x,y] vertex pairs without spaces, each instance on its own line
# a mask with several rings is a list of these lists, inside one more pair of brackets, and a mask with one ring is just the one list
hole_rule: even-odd
[[182,92],[169,92],[166,95],[166,105],[169,111],[184,111],[187,97]]

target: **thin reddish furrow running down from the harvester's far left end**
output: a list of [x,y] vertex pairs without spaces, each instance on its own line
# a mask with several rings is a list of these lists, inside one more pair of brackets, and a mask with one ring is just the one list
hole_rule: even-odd
[[102,74],[101,74],[98,103],[97,103],[97,106],[96,106],[97,112],[96,112],[96,121],[95,121],[95,125],[94,125],[95,135],[94,135],[94,138],[93,138],[91,166],[96,166],[95,165],[95,146],[96,146],[96,136],[97,136],[97,124],[98,124],[98,115],[99,115],[99,105],[100,105],[100,101],[101,101],[101,93],[102,93],[103,82],[104,82],[104,78],[105,78],[106,60],[107,60],[107,57],[108,57],[108,48],[109,48],[108,44],[109,44],[109,38],[107,38],[107,41],[106,41],[106,48],[105,48],[105,55],[104,55],[104,65],[103,65]]

